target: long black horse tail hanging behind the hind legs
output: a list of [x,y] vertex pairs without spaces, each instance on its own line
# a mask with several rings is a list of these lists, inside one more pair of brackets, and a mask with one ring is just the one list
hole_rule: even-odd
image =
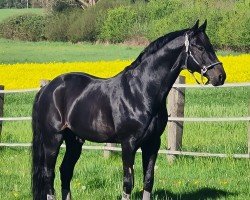
[[33,141],[32,141],[32,194],[33,200],[41,200],[44,198],[44,183],[45,176],[43,173],[43,165],[45,161],[45,150],[44,150],[44,138],[40,130],[38,112],[39,105],[38,100],[41,95],[41,90],[36,94],[35,101],[32,110],[32,130],[33,130]]

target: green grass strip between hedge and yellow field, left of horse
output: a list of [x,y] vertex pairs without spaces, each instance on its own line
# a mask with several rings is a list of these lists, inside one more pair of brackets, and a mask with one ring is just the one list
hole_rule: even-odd
[[128,60],[136,58],[142,47],[64,42],[23,42],[0,39],[0,63],[73,62]]

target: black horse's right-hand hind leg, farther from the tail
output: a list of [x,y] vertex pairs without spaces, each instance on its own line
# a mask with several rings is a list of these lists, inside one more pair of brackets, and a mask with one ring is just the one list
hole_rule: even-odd
[[60,166],[62,200],[71,200],[70,182],[84,142],[77,138],[70,129],[65,129],[63,135],[66,152]]

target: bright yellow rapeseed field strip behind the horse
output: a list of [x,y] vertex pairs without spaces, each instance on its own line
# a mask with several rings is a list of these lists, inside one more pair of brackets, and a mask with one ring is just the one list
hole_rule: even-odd
[[[227,73],[226,82],[250,82],[250,54],[219,57]],[[36,88],[41,79],[53,79],[67,72],[86,72],[98,77],[112,77],[122,71],[131,61],[101,61],[72,63],[22,63],[0,64],[0,84],[5,89]],[[187,71],[187,83],[195,83]],[[199,75],[197,75],[199,79]]]

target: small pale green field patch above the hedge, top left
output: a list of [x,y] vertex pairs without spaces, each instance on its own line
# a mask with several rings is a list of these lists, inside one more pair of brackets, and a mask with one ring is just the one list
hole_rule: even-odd
[[29,9],[0,9],[0,22],[13,15],[21,15],[26,13],[44,13],[43,9],[39,8],[29,8]]

